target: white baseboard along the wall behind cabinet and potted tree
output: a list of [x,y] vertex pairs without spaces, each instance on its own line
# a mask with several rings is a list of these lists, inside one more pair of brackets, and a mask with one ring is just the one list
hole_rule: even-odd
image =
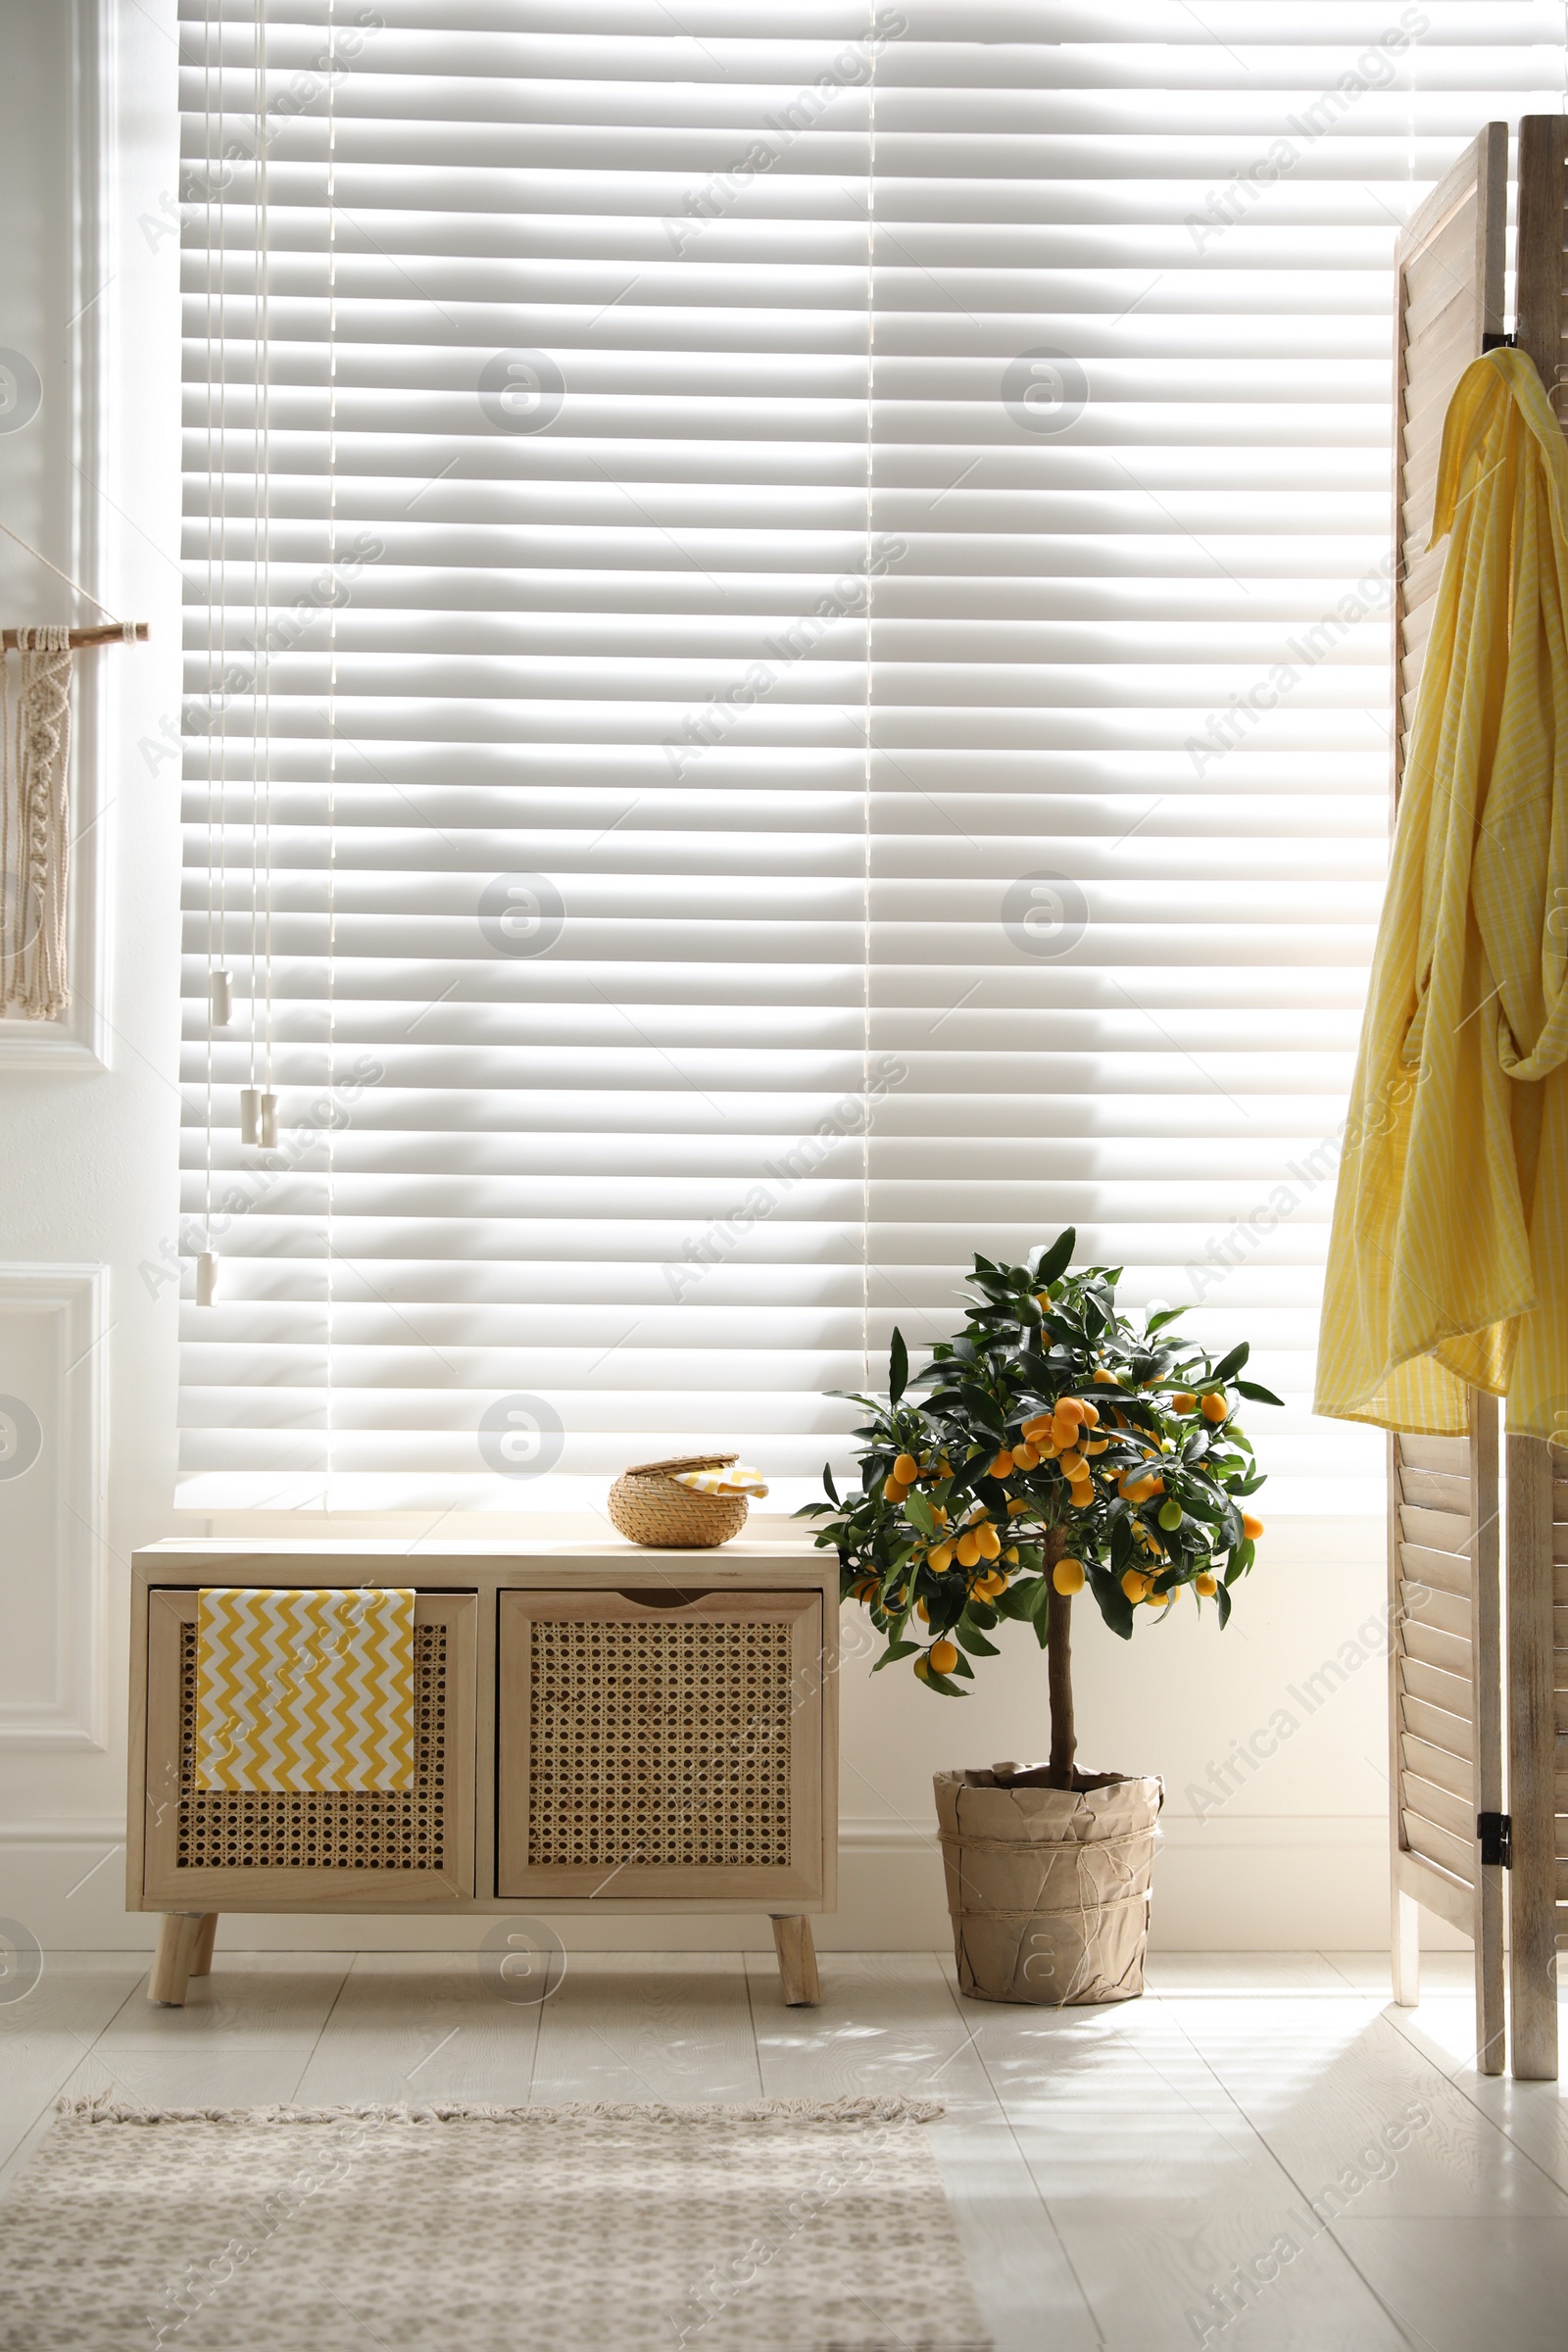
[[[125,1832],[118,1820],[0,1825],[0,1910],[45,1950],[150,1950],[158,1919],[125,1910]],[[1159,1952],[1371,1952],[1389,1936],[1387,1823],[1361,1813],[1166,1813],[1154,1865],[1152,1945]],[[266,1952],[463,1952],[484,1919],[235,1917],[221,1938]],[[583,1952],[766,1950],[766,1919],[562,1919]],[[947,1943],[936,1823],[860,1816],[839,1828],[839,1910],[816,1924],[825,1952],[929,1952]],[[1465,1950],[1422,1915],[1422,1943]]]

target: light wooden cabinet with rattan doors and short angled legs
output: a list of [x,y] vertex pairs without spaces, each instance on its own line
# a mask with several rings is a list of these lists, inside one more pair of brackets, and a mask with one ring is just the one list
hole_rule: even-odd
[[[195,1785],[202,1585],[411,1585],[414,1788]],[[127,1905],[165,1912],[150,1999],[219,1912],[769,1912],[818,1999],[837,1905],[837,1559],[581,1543],[155,1543],[134,1557]]]

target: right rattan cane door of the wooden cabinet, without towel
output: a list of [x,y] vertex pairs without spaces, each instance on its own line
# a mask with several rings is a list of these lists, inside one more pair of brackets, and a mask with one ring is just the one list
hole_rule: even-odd
[[820,1903],[818,1592],[498,1602],[498,1896]]

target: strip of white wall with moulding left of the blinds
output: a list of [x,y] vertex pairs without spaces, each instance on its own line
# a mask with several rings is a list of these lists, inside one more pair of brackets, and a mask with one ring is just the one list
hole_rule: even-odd
[[[78,670],[75,1040],[0,1023],[0,1392],[40,1423],[33,1468],[0,1482],[0,1912],[54,1943],[118,1926],[118,1858],[66,1891],[122,1813],[129,1555],[167,1531],[174,1465],[174,1310],[136,1277],[179,1136],[179,781],[136,755],[179,710],[179,259],[139,226],[176,191],[174,64],[174,0],[0,0],[0,346],[42,381],[0,430],[0,520],[153,628]],[[0,616],[99,619],[9,541]],[[38,1296],[61,1268],[103,1270],[101,1331],[80,1329],[92,1301]]]

